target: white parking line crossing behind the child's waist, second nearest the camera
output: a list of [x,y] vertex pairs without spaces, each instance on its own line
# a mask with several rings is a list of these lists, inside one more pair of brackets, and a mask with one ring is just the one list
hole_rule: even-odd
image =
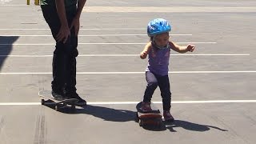
[[[228,74],[228,73],[256,73],[256,70],[237,70],[237,71],[169,71],[169,74]],[[20,73],[5,73],[2,75],[15,74],[52,74],[51,72],[20,72]],[[126,72],[77,72],[77,74],[145,74],[145,71],[126,71]]]

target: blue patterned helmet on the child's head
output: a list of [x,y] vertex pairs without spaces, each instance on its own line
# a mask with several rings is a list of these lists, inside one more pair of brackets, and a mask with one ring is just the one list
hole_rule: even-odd
[[147,34],[152,37],[156,34],[162,34],[171,30],[170,24],[163,18],[156,18],[147,24]]

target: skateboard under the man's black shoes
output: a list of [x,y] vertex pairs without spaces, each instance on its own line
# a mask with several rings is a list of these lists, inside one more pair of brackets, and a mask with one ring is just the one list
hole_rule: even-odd
[[[47,104],[54,104],[55,110],[60,110],[60,108],[66,107],[67,105],[71,105],[71,109],[75,110],[75,102],[78,102],[78,99],[76,98],[69,98],[64,99],[62,101],[58,101],[57,99],[54,99],[51,97],[51,91],[50,90],[41,90],[38,92],[38,95],[42,98],[41,104],[47,105]],[[51,102],[47,102],[45,99],[50,100]]]

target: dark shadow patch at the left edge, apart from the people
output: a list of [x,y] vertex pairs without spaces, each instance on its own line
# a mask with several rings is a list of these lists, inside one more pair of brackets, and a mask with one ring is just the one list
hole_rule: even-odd
[[2,69],[3,63],[5,62],[7,56],[10,54],[13,46],[12,44],[17,41],[18,37],[2,37],[0,36],[0,71]]

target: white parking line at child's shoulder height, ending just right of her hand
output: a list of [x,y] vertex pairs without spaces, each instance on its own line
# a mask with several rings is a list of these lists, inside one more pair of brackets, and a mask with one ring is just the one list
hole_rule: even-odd
[[[217,42],[176,42],[180,44],[216,44]],[[78,45],[146,45],[146,43],[78,43]],[[0,46],[55,46],[55,43],[0,43]]]

